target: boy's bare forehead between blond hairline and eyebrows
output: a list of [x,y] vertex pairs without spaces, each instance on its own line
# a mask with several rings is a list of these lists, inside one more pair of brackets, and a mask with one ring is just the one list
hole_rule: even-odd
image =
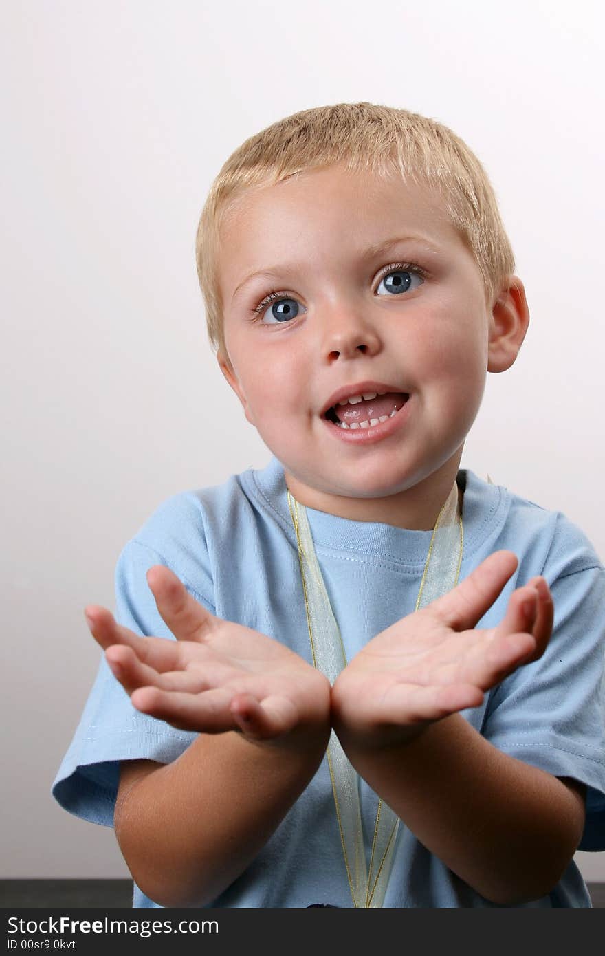
[[337,166],[297,174],[229,208],[219,257],[224,301],[251,272],[293,262],[316,272],[408,235],[437,250],[463,245],[443,198],[426,186]]

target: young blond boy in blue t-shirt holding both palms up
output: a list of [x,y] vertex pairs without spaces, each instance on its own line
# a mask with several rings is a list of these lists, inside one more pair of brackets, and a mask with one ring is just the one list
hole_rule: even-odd
[[590,906],[605,569],[459,468],[529,323],[481,163],[404,110],[306,110],[227,160],[197,259],[272,457],[119,555],[55,798],[115,825],[135,906]]

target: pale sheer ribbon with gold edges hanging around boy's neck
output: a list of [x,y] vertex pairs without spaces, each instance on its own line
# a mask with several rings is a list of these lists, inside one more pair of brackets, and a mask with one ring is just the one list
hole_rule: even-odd
[[[307,509],[292,497],[290,490],[288,505],[298,544],[313,666],[325,674],[330,684],[334,684],[340,671],[347,665],[342,637],[315,554]],[[462,565],[463,546],[458,485],[454,482],[433,529],[416,611],[456,587]],[[368,870],[359,805],[359,777],[342,750],[334,729],[330,735],[327,757],[353,904],[356,908],[380,907],[384,902],[393,867],[400,820],[380,798]],[[380,859],[376,873],[375,858]]]

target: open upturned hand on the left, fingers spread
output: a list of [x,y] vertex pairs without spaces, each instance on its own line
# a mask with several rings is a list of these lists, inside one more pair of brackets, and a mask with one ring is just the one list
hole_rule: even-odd
[[106,608],[85,616],[105,659],[138,710],[183,730],[238,730],[255,742],[301,746],[330,732],[330,683],[288,647],[215,617],[163,565],[147,572],[176,641],[141,638]]

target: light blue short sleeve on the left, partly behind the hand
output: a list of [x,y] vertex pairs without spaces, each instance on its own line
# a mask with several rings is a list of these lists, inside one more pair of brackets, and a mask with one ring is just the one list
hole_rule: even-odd
[[[119,624],[140,637],[175,641],[158,612],[145,576],[156,564],[170,567],[189,594],[215,613],[208,598],[213,595],[213,589],[207,573],[196,576],[194,588],[184,578],[180,561],[169,563],[162,554],[133,539],[119,555],[116,567],[114,616]],[[112,674],[103,655],[74,739],[54,779],[52,794],[69,813],[113,826],[119,761],[147,759],[167,764],[176,760],[196,737],[195,732],[173,728],[132,706],[129,695]]]

